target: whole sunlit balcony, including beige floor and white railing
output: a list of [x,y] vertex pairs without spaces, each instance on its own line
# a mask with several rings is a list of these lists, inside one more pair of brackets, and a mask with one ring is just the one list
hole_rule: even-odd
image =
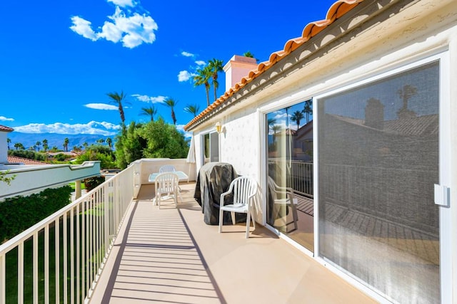
[[178,209],[153,206],[143,177],[161,162],[134,162],[1,245],[0,303],[11,287],[14,303],[375,303],[261,225],[245,239],[243,225],[204,224],[194,182],[181,183]]

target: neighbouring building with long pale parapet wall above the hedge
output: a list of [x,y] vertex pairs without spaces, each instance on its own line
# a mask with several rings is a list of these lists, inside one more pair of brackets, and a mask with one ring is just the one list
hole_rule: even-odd
[[33,159],[8,156],[7,134],[11,127],[0,125],[0,172],[14,176],[10,184],[0,182],[1,201],[11,196],[27,196],[46,188],[61,187],[76,181],[76,198],[81,196],[81,179],[100,175],[100,162],[80,165],[46,164]]

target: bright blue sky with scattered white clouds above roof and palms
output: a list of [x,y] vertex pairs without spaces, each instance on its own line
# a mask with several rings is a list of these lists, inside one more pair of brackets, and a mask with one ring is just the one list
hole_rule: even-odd
[[[311,21],[325,19],[333,0],[4,1],[0,28],[0,125],[16,132],[115,135],[119,112],[106,93],[127,96],[126,123],[147,122],[141,108],[174,98],[176,125],[206,108],[192,75],[211,58],[246,51],[268,60]],[[224,94],[224,73],[218,95]],[[211,89],[212,90],[212,89]],[[211,95],[210,95],[211,96]]]

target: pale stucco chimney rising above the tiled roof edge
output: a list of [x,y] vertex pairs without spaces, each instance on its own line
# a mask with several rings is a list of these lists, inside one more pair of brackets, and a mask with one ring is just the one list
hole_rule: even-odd
[[256,58],[234,55],[229,62],[224,65],[226,73],[226,91],[233,85],[239,83],[241,78],[246,77],[251,70],[257,68]]

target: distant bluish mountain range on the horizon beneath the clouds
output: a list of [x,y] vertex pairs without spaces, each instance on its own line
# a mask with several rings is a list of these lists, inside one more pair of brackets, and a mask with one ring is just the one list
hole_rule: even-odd
[[[69,150],[72,150],[74,146],[82,146],[84,142],[87,142],[88,145],[96,144],[97,140],[103,138],[111,137],[113,140],[113,145],[115,141],[115,136],[104,136],[104,135],[91,135],[91,134],[56,134],[56,133],[21,133],[21,132],[9,132],[8,138],[11,139],[11,144],[9,145],[10,149],[14,149],[14,144],[21,143],[26,149],[33,147],[36,142],[43,142],[44,139],[48,140],[49,149],[52,147],[57,147],[59,150],[64,150],[64,140],[65,138],[69,139]],[[106,144],[105,144],[106,145]],[[42,149],[42,146],[41,146]]]

